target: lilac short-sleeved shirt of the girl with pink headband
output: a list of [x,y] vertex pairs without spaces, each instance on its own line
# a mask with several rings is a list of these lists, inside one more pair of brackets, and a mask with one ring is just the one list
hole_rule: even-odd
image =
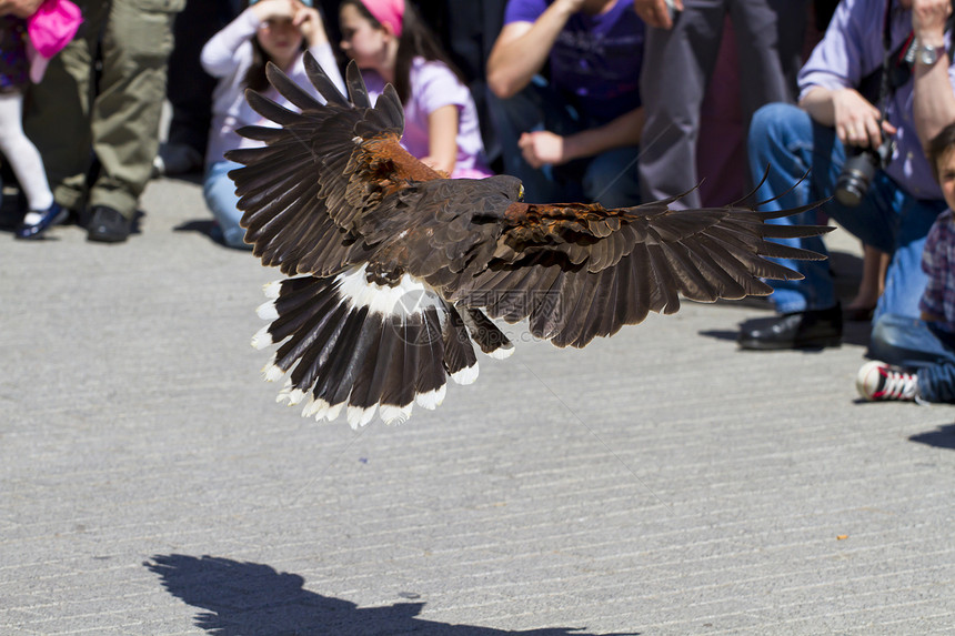
[[[384,80],[374,71],[363,70],[372,103],[384,90]],[[401,144],[422,159],[431,154],[428,115],[441,107],[458,107],[458,160],[453,176],[487,176],[492,174],[484,161],[484,142],[478,121],[478,109],[471,91],[462,84],[446,64],[414,58],[409,79],[411,95],[404,104],[404,137]]]

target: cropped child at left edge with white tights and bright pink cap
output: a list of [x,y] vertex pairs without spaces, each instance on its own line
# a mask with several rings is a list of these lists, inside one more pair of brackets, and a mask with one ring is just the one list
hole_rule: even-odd
[[[0,152],[13,169],[28,206],[13,230],[17,239],[39,239],[47,228],[67,216],[67,211],[53,200],[43,158],[23,133],[23,92],[31,81],[42,79],[48,58],[73,38],[79,11],[76,4],[70,4],[69,11],[63,8],[66,19],[51,23],[46,12],[38,14],[38,9],[32,4],[19,10],[0,9]],[[40,32],[38,20],[47,20],[46,26],[40,24]],[[31,31],[44,41],[33,42]]]

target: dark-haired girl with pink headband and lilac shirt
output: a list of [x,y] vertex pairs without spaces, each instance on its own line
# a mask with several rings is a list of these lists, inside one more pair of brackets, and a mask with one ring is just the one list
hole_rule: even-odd
[[401,144],[453,178],[492,174],[474,98],[438,38],[404,0],[344,0],[341,48],[362,72],[372,103],[391,83],[404,107]]

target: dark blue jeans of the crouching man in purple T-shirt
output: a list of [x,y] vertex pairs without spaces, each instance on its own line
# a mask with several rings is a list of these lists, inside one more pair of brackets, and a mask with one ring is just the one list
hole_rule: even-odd
[[517,140],[524,132],[547,130],[566,137],[595,128],[577,113],[543,78],[535,77],[513,98],[502,100],[487,91],[487,105],[501,152],[504,172],[513,174],[524,185],[524,199],[531,203],[565,203],[596,201],[604,208],[626,208],[640,203],[636,176],[635,145],[615,148],[594,157],[577,159],[562,165],[540,169],[524,161]]

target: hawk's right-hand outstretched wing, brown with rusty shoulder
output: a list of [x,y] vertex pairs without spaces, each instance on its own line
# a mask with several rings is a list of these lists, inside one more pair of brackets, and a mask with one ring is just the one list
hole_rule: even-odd
[[677,311],[680,295],[702,302],[765,295],[772,287],[762,279],[798,277],[767,258],[822,256],[771,240],[815,236],[832,228],[765,221],[810,208],[672,210],[657,203],[606,210],[511,203],[484,269],[446,283],[446,290],[492,317],[530,317],[531,333],[557,346],[580,347],[641,322],[650,311]]

